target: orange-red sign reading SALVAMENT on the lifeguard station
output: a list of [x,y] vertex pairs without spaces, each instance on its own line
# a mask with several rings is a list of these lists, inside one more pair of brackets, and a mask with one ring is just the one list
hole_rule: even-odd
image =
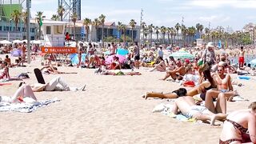
[[76,47],[42,47],[42,53],[46,54],[74,54],[77,53]]

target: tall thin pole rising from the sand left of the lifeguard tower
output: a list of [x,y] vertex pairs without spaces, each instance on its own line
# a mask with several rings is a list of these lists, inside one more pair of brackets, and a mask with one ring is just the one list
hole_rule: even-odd
[[31,8],[31,0],[26,0],[26,38],[27,38],[27,63],[30,64],[30,8]]

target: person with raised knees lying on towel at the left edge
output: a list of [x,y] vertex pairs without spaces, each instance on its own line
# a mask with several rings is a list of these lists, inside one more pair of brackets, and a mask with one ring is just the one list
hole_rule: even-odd
[[26,84],[20,86],[18,90],[14,93],[12,97],[8,96],[0,96],[0,102],[9,102],[9,103],[17,103],[23,102],[23,98],[33,98],[34,101],[38,101],[38,99],[34,96],[34,92],[31,89],[31,86]]

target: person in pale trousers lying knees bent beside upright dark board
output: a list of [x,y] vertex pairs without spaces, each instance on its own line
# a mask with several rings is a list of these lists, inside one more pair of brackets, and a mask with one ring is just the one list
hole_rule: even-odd
[[[60,86],[58,86],[60,85]],[[62,77],[57,77],[50,82],[46,84],[41,84],[41,83],[35,83],[34,85],[30,85],[32,87],[32,90],[34,92],[40,92],[40,91],[54,91],[54,90],[59,90],[59,91],[77,91],[77,90],[85,90],[86,85],[83,85],[79,88],[76,87],[70,87],[68,84],[62,79]]]

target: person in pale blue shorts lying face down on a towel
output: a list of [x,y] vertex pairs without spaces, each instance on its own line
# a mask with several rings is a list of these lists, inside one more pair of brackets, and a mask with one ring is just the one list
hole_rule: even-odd
[[173,106],[172,113],[178,114],[178,110],[182,112],[187,118],[196,118],[203,122],[210,121],[210,125],[214,126],[215,120],[225,120],[226,114],[214,114],[205,106],[198,106],[195,104],[192,97],[179,97]]

